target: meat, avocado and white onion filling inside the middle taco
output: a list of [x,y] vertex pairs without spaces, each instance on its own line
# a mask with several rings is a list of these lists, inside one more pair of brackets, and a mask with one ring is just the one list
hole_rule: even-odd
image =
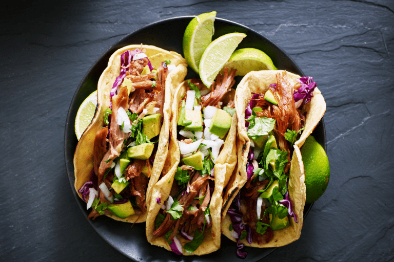
[[[177,254],[183,254],[182,249],[187,253],[198,249],[204,237],[210,234],[212,224],[220,228],[220,220],[212,219],[210,204],[215,189],[214,165],[235,113],[234,76],[235,70],[226,69],[211,89],[200,79],[188,80],[178,104],[176,142],[181,161],[176,167],[169,197],[155,217],[152,233],[154,237],[165,237]],[[156,201],[161,204],[162,200],[157,198]],[[210,237],[212,235],[215,234]],[[216,237],[220,238],[220,231]]]

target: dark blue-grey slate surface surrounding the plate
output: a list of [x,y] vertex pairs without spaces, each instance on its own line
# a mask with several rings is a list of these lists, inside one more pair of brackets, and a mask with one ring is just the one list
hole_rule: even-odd
[[90,227],[74,199],[63,152],[71,99],[123,36],[213,10],[277,43],[327,103],[328,188],[300,239],[264,261],[393,260],[394,2],[383,0],[3,3],[0,260],[129,260]]

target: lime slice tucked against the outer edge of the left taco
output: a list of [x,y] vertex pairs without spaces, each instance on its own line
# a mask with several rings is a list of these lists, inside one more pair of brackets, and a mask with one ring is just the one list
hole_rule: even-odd
[[91,93],[81,104],[80,108],[76,112],[75,117],[75,135],[80,140],[86,127],[90,124],[93,119],[94,111],[97,105],[97,91]]

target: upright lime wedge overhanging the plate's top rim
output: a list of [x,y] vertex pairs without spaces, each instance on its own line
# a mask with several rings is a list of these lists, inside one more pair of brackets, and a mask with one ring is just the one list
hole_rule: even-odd
[[213,11],[194,17],[183,35],[183,54],[189,67],[196,73],[199,73],[201,56],[212,41],[215,16],[216,12]]

